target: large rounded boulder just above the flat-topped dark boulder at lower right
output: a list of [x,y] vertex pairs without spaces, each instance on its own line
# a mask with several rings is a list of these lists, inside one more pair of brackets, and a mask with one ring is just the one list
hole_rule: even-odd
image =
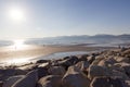
[[110,76],[110,74],[108,69],[99,65],[90,65],[88,70],[88,77],[91,79],[96,76]]

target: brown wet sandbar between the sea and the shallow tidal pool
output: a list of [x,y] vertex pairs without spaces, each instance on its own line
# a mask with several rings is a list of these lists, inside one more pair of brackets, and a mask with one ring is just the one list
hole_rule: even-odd
[[22,47],[2,47],[0,48],[0,61],[31,57],[47,55],[55,52],[69,51],[94,51],[104,48],[100,47],[83,47],[83,46],[22,46]]

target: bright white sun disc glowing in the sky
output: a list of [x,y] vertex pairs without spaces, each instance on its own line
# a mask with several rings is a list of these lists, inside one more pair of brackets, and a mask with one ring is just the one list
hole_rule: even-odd
[[21,9],[12,8],[9,11],[9,15],[14,21],[23,21],[25,20],[24,12]]

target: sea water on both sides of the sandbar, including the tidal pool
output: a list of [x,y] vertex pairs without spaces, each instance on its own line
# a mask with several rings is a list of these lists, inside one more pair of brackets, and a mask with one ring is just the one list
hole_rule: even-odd
[[[15,40],[0,40],[0,48],[8,48],[8,50],[18,49],[18,47],[23,45],[34,45],[34,46],[84,46],[84,47],[128,47],[130,40],[122,40],[122,39],[80,39],[80,38],[40,38],[40,39],[15,39]],[[24,47],[26,48],[26,47]],[[101,49],[103,50],[103,49]],[[96,50],[95,50],[96,51]],[[92,53],[95,51],[69,51],[69,52],[56,52],[51,53],[48,55],[41,57],[31,57],[31,58],[23,58],[23,59],[11,59],[5,61],[0,61],[0,65],[8,65],[8,64],[20,64],[20,63],[27,63],[34,62],[37,60],[46,60],[46,59],[60,59],[67,55],[78,55],[78,54],[87,54]],[[98,50],[99,51],[99,50]]]

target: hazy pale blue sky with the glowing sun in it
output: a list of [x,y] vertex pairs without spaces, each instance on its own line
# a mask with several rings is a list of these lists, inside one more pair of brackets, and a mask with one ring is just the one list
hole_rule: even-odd
[[0,0],[0,39],[130,34],[130,0]]

